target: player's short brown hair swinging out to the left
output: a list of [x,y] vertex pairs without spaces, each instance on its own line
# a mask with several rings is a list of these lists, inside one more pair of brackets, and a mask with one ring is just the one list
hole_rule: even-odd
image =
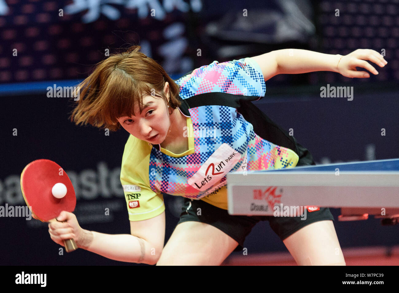
[[178,84],[162,66],[139,52],[140,48],[132,46],[128,51],[111,55],[97,64],[94,72],[78,85],[80,96],[71,113],[71,121],[76,125],[90,124],[117,131],[120,129],[117,118],[132,116],[137,101],[141,111],[142,97],[154,95],[154,90],[168,104],[163,92],[165,82],[169,83],[170,107],[176,109],[180,106]]

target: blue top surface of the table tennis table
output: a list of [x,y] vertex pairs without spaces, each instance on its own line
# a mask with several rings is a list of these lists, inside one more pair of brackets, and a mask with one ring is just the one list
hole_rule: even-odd
[[251,173],[261,173],[268,171],[336,171],[339,168],[340,171],[399,171],[399,159],[389,160],[375,160],[375,161],[363,161],[363,162],[350,162],[350,163],[339,163],[339,164],[326,164],[326,165],[312,165],[312,166],[299,166],[295,168],[284,168],[279,170],[267,170],[267,171],[250,171]]

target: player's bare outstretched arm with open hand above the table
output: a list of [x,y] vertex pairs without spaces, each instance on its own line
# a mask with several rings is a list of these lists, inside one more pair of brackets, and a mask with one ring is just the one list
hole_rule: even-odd
[[271,51],[263,55],[251,57],[261,67],[265,80],[277,74],[299,74],[313,71],[333,71],[346,77],[367,78],[366,71],[357,71],[356,67],[378,74],[377,70],[368,63],[369,60],[380,67],[387,61],[377,51],[371,49],[357,49],[348,55],[331,55],[302,49],[282,49]]

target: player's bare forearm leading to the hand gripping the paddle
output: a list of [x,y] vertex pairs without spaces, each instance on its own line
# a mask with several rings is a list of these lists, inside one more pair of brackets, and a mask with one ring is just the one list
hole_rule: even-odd
[[111,260],[151,265],[158,261],[149,242],[130,234],[104,234],[83,230],[76,242],[79,248]]

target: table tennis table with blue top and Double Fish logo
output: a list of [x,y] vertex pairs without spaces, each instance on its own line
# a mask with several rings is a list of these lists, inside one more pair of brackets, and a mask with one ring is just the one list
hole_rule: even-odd
[[[399,221],[399,159],[231,172],[230,215],[270,216],[280,207],[341,208],[340,221]],[[308,211],[311,211],[308,209]]]

